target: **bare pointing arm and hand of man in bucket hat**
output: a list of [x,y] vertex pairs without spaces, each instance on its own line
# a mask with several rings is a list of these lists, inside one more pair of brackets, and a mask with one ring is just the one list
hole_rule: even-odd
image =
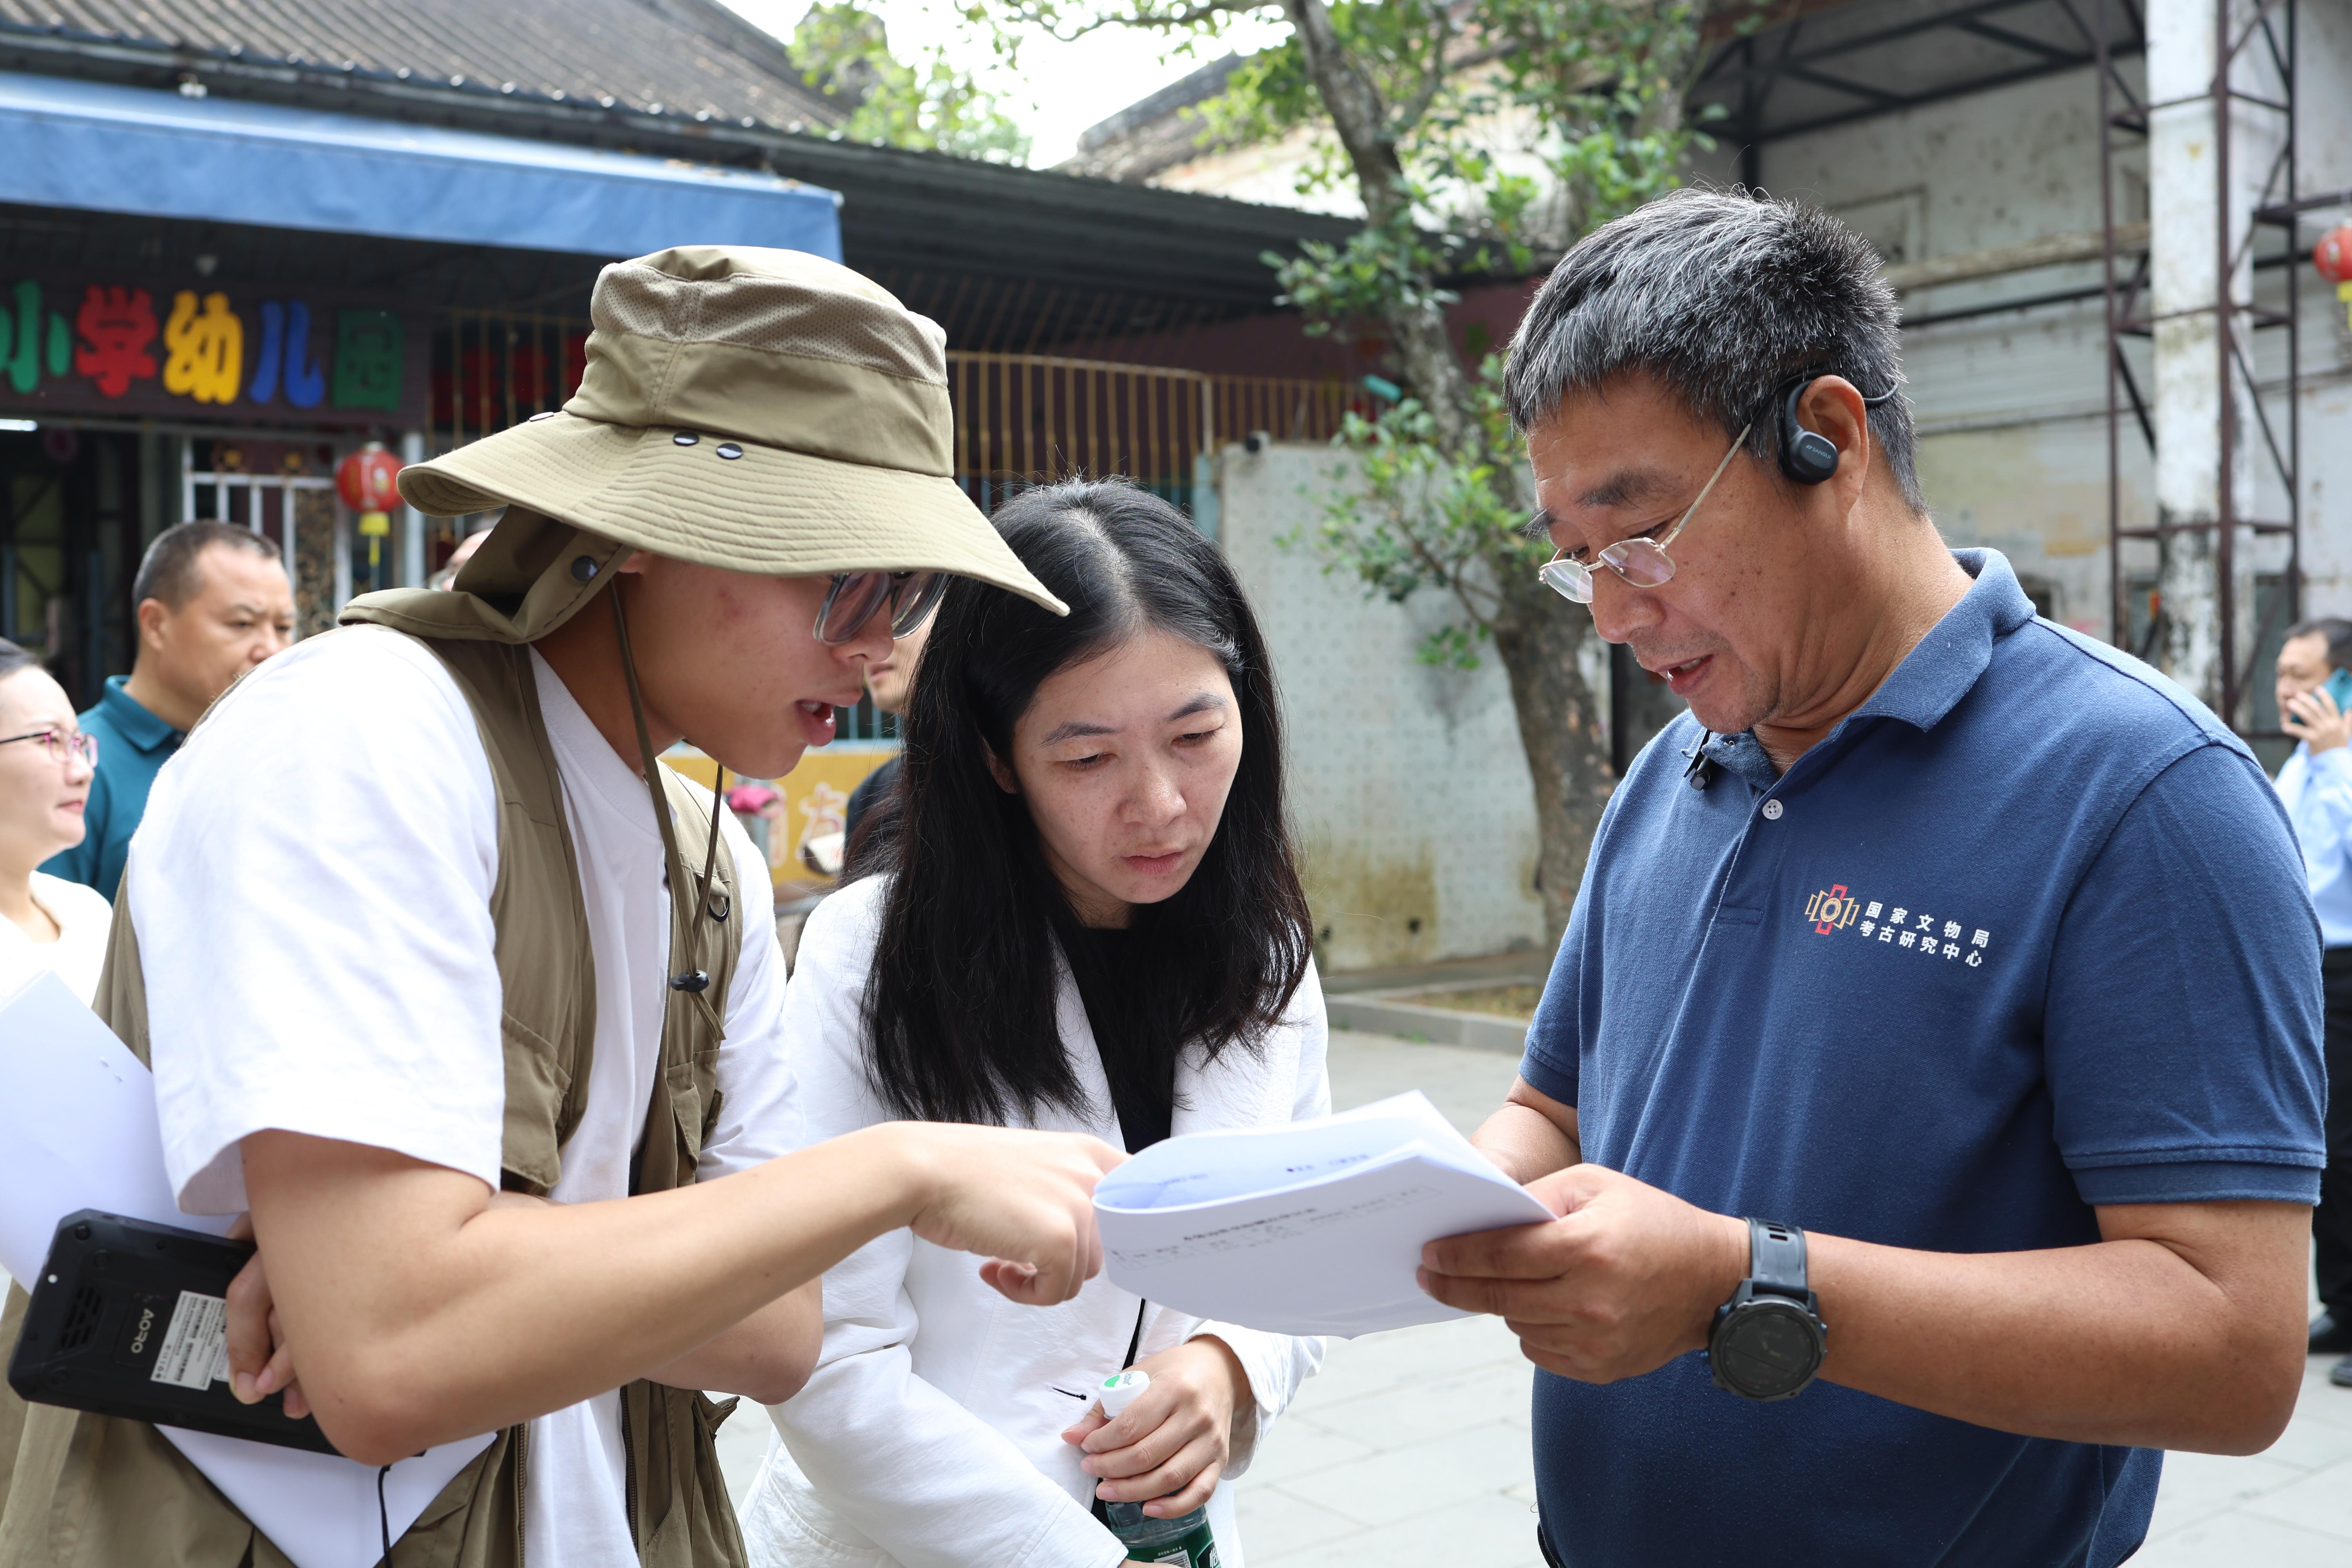
[[807,1312],[779,1298],[903,1225],[995,1258],[981,1272],[1014,1300],[1068,1300],[1101,1269],[1091,1192],[1122,1159],[1077,1133],[884,1124],[677,1192],[494,1204],[355,1143],[273,1131],[242,1157],[303,1396],[367,1465],[701,1378],[746,1319]]

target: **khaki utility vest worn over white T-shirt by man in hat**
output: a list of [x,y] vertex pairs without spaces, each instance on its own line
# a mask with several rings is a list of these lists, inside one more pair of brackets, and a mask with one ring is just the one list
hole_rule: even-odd
[[[499,1161],[506,1190],[546,1194],[588,1100],[595,971],[532,656],[513,642],[506,616],[480,609],[470,592],[395,590],[353,602],[343,621],[419,635],[456,677],[480,726],[499,795],[499,882],[489,896],[506,1051]],[[696,797],[673,769],[654,771],[668,792],[677,858],[689,867],[691,893],[708,835],[717,830],[710,799]],[[675,870],[670,882],[677,884]],[[710,987],[668,994],[661,1065],[630,1192],[689,1185],[703,1138],[717,1121],[717,1023],[727,1016],[746,919],[734,891],[734,865],[722,853],[699,907],[673,922],[666,973],[699,969],[710,976]],[[684,898],[673,903],[687,905]],[[129,898],[115,903],[96,1009],[132,1053],[148,1060],[146,983]],[[21,1307],[24,1295],[12,1291],[9,1349]],[[0,1401],[14,1406],[0,1410],[0,1441],[21,1420],[14,1474],[0,1455],[0,1568],[292,1568],[155,1427],[24,1406],[5,1387]],[[734,1403],[717,1406],[694,1389],[659,1382],[621,1389],[628,1516],[647,1568],[741,1568],[748,1561],[713,1446]],[[393,1542],[390,1568],[524,1568],[524,1436],[527,1427],[508,1427],[459,1472]]]

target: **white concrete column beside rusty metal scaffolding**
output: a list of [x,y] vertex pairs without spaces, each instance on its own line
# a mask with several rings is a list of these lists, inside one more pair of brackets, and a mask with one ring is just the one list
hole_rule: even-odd
[[[2253,508],[2253,444],[2260,442],[2251,388],[2223,371],[2220,313],[2232,306],[2232,331],[2251,362],[2244,308],[2253,299],[2253,261],[2246,230],[2263,181],[2279,153],[2281,125],[2270,110],[2246,103],[2230,108],[2227,167],[2216,136],[2213,73],[2220,33],[2230,38],[2251,21],[2251,0],[2150,0],[2147,5],[2147,207],[2150,207],[2150,306],[2154,313],[2154,423],[2157,423],[2157,520],[2161,524],[2211,524],[2230,498],[2230,515]],[[2232,61],[2232,82],[2274,94],[2267,71],[2256,73],[2251,49]],[[2223,214],[2227,212],[2227,242]],[[2227,266],[2223,247],[2234,263]],[[2227,294],[2225,294],[2227,289]],[[2223,473],[2223,418],[2232,440]],[[2227,489],[2225,489],[2227,487]],[[2251,637],[2249,607],[2251,536],[2234,531],[2237,639]],[[2206,703],[2220,703],[2220,529],[2169,534],[2161,545],[2161,595],[2166,632],[2159,661],[2166,672]],[[2244,658],[2244,646],[2230,654]]]

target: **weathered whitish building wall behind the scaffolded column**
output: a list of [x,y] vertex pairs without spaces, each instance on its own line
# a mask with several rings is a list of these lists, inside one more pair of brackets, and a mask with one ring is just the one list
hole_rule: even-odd
[[[2352,7],[2310,5],[2298,19],[2303,80],[2303,188],[2352,186]],[[2138,61],[2124,61],[2138,82]],[[2145,158],[2119,139],[2117,221],[2147,216]],[[1705,179],[1733,176],[1733,148],[1719,148]],[[2044,235],[2096,230],[2098,85],[2089,71],[2020,82],[1903,115],[1865,120],[1762,153],[1762,183],[1853,221],[1903,261],[1955,256]],[[2352,214],[2314,214],[2310,237]],[[2267,249],[2270,242],[2265,242]],[[2303,559],[2305,614],[2352,611],[2352,331],[2343,306],[2298,259],[2303,282]],[[2129,268],[2129,263],[2126,263]],[[1997,299],[2091,287],[2098,263],[2013,273],[1943,289],[1915,289],[1907,315],[1933,315]],[[2258,299],[2284,303],[2284,273],[2258,275]],[[2145,303],[2143,303],[2145,308]],[[2145,343],[2126,348],[2152,395]],[[2107,423],[2100,301],[1983,315],[1915,327],[1903,357],[1919,418],[1919,470],[1929,505],[1955,545],[1994,545],[2020,574],[2053,585],[2060,621],[2110,635]],[[2281,430],[2286,400],[2284,334],[2258,334],[2265,409]],[[2147,444],[2129,400],[2119,442],[2122,515],[2154,517]],[[2249,430],[2249,440],[2260,440]],[[2284,496],[2256,463],[2258,515],[2281,515]],[[2284,567],[2277,541],[2246,541],[2258,571]],[[2154,548],[2126,543],[2126,576],[2152,571]],[[2249,616],[2241,616],[2241,623]],[[2249,628],[2251,630],[2251,628]]]

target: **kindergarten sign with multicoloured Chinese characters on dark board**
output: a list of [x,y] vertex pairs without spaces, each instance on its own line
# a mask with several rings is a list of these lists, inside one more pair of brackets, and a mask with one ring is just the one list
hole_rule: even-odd
[[315,292],[0,284],[0,414],[421,425],[409,313]]

